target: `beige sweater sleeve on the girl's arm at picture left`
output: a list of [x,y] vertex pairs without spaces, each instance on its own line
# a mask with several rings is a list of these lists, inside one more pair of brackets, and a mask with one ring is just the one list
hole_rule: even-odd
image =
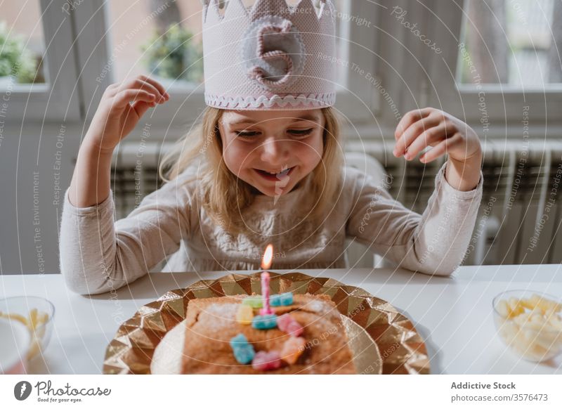
[[79,294],[114,291],[176,252],[190,231],[191,200],[175,181],[147,195],[114,223],[112,192],[100,204],[74,207],[65,192],[60,226],[60,271]]

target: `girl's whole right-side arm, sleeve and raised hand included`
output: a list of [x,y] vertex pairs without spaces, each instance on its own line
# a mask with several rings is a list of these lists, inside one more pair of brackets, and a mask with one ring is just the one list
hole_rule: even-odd
[[392,199],[373,181],[358,177],[348,235],[383,257],[414,271],[450,275],[462,263],[482,197],[482,150],[467,124],[446,112],[408,112],[396,129],[394,155],[431,162],[448,154],[423,214]]

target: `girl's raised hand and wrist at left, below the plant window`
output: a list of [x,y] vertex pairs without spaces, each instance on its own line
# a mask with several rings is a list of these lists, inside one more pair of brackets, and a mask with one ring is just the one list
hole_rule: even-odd
[[113,152],[148,108],[165,103],[169,98],[162,84],[144,75],[111,84],[103,93],[84,141],[101,152]]

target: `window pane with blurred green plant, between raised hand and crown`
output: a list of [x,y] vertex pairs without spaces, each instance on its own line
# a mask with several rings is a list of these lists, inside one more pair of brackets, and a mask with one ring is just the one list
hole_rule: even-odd
[[115,81],[147,74],[166,88],[202,82],[200,1],[112,0],[108,6]]

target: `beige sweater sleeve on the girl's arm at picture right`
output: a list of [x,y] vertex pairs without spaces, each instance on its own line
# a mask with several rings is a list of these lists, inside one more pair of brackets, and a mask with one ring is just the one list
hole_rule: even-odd
[[450,275],[462,263],[482,199],[483,176],[474,190],[456,190],[438,171],[423,214],[393,200],[372,178],[356,179],[347,235],[412,271]]

